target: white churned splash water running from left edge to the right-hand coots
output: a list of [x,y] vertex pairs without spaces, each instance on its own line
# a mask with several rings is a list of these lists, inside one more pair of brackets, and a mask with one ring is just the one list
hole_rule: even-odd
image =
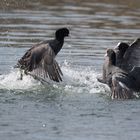
[[[68,64],[64,64],[62,67],[63,82],[56,83],[50,81],[49,85],[56,89],[63,89],[71,93],[104,93],[109,91],[109,88],[103,84],[100,84],[96,77],[98,73],[95,72],[92,67],[72,68]],[[41,88],[41,82],[34,80],[31,76],[24,75],[23,80],[19,79],[20,72],[17,69],[12,69],[9,74],[0,75],[0,89],[6,90],[35,90],[35,88]]]

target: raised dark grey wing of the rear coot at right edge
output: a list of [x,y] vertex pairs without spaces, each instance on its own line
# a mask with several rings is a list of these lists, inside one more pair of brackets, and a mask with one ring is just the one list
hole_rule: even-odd
[[140,67],[140,38],[130,45],[124,55],[123,69],[131,71],[134,66]]

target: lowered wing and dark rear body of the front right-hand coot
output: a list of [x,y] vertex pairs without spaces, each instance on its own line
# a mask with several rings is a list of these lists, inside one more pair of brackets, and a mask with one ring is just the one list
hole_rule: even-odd
[[109,87],[112,99],[129,99],[134,97],[134,92],[140,91],[140,79],[137,78],[140,67],[134,67],[127,73],[118,67],[113,67]]

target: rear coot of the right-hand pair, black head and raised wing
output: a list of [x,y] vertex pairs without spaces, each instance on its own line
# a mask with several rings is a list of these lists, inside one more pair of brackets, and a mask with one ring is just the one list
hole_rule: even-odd
[[127,72],[133,67],[140,67],[140,39],[136,39],[132,44],[119,43],[114,49],[116,53],[116,65]]

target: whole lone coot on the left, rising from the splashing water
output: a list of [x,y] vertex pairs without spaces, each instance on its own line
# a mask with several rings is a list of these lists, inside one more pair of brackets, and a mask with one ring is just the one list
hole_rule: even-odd
[[25,74],[34,73],[36,76],[49,77],[56,82],[62,81],[62,72],[55,56],[64,44],[64,37],[68,35],[67,28],[58,29],[54,39],[38,43],[27,50],[18,61],[17,67],[24,70]]

